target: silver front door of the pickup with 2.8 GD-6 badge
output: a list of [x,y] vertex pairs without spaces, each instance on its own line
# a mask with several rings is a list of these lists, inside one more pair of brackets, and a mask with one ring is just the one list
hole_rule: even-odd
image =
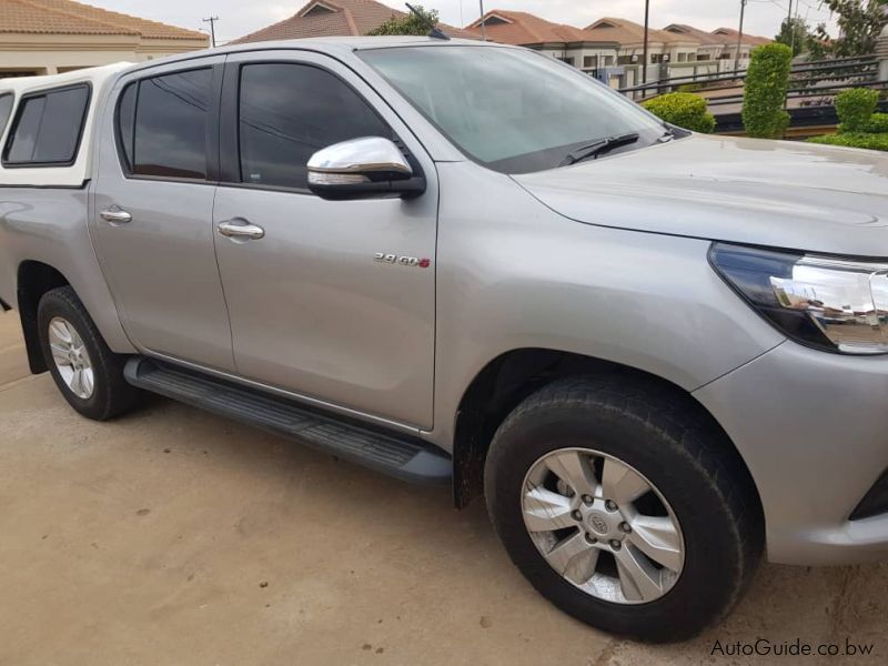
[[[384,102],[321,54],[234,54],[222,94],[213,221],[238,373],[323,403],[432,425],[434,164]],[[404,142],[428,189],[404,201],[324,201],[306,188],[315,151],[359,137]],[[230,226],[229,226],[230,229]],[[428,260],[405,265],[376,255]]]

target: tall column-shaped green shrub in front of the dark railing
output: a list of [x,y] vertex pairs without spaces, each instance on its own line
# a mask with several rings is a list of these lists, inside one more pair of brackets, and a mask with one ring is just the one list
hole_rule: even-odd
[[789,127],[784,110],[793,50],[786,44],[753,49],[743,93],[743,124],[749,137],[774,139]]

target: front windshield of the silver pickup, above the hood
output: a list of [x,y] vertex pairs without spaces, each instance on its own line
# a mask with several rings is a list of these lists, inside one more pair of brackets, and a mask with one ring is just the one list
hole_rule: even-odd
[[662,122],[592,77],[533,51],[491,47],[370,49],[359,56],[475,161],[503,173],[554,169],[596,141],[663,137]]

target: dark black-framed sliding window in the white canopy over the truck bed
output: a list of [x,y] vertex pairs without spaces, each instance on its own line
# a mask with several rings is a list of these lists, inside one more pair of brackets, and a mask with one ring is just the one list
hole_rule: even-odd
[[72,164],[80,147],[89,100],[87,84],[23,97],[3,151],[3,163]]

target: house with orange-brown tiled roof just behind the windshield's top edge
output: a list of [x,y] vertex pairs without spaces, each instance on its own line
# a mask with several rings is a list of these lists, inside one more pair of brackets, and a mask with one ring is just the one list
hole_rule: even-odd
[[599,77],[607,82],[622,74],[615,69],[617,42],[599,40],[579,28],[553,23],[532,13],[495,9],[468,26],[467,30],[477,38],[483,36],[490,41],[541,51],[589,74],[597,75],[608,69],[613,77],[606,73]]

